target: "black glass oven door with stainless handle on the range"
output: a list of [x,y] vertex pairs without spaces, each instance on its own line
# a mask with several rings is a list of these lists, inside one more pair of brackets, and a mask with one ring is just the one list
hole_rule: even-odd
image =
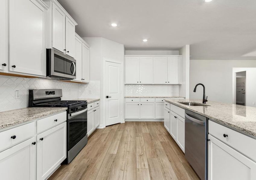
[[74,147],[87,134],[87,108],[68,114],[67,149]]

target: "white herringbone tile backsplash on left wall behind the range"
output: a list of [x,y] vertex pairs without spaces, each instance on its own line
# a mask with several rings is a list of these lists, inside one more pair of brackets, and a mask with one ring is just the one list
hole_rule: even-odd
[[[77,84],[45,78],[0,76],[0,111],[28,107],[28,90],[47,88],[62,89],[63,100],[100,98],[100,81]],[[20,99],[15,99],[15,91],[20,91]]]

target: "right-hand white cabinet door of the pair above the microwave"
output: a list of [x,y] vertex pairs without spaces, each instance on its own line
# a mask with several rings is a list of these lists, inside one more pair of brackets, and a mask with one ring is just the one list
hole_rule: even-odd
[[74,23],[68,19],[66,16],[66,54],[74,57],[74,49],[75,49],[75,25]]

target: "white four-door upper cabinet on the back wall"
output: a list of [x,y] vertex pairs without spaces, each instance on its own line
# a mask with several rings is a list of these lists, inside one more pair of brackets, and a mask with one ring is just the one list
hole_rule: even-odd
[[125,84],[181,84],[181,82],[181,55],[125,57]]

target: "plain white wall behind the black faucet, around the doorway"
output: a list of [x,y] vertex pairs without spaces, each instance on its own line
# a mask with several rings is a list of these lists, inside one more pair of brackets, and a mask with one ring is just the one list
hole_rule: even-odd
[[190,98],[203,98],[202,87],[193,92],[197,83],[203,83],[208,100],[232,103],[233,67],[256,67],[256,60],[191,60]]

